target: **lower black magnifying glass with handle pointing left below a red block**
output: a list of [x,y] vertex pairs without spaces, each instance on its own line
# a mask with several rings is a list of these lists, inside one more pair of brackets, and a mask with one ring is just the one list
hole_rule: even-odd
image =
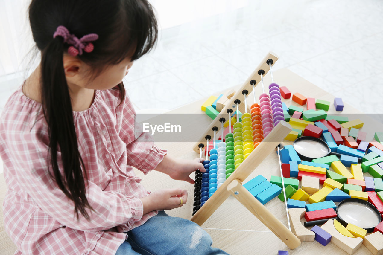
[[[351,223],[355,226],[367,230],[368,233],[373,232],[375,227],[381,221],[379,210],[371,203],[357,198],[347,198],[341,201],[336,209],[337,219],[343,226]],[[306,221],[305,227],[324,224],[329,219],[321,219],[318,221]]]

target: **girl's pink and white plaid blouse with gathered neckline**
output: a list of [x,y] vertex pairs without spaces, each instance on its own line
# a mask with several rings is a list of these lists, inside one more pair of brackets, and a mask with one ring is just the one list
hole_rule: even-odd
[[118,96],[119,90],[96,90],[90,108],[73,112],[89,180],[86,195],[96,211],[88,210],[90,221],[80,213],[77,221],[74,204],[49,176],[41,104],[21,88],[8,99],[0,120],[0,155],[7,183],[4,226],[18,247],[15,254],[115,254],[127,237],[123,232],[158,213],[142,215],[139,198],[149,191],[132,166],[146,174],[166,150],[156,147],[148,133],[137,134],[133,105],[126,96],[118,106]]

